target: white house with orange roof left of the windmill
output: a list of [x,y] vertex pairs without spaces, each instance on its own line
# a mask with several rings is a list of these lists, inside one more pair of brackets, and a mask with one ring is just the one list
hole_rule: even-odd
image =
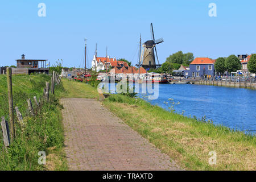
[[129,65],[125,61],[118,61],[115,57],[110,58],[108,57],[96,57],[96,55],[93,56],[92,60],[92,69],[97,72],[108,70],[109,68],[117,67],[121,69],[122,67],[126,67],[128,69]]

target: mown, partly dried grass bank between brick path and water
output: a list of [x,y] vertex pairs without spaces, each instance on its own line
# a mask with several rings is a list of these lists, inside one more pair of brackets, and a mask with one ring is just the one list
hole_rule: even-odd
[[[97,90],[84,83],[64,80],[64,88],[69,97],[97,97]],[[253,136],[170,113],[138,98],[113,95],[104,105],[184,169],[256,169]],[[208,163],[210,151],[217,153],[214,166]]]

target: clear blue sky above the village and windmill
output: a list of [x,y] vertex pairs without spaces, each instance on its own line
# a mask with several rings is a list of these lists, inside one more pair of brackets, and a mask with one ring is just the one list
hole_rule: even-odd
[[[38,4],[46,4],[46,17]],[[216,3],[217,17],[209,17],[209,3]],[[256,1],[229,0],[1,0],[0,66],[27,59],[63,59],[66,67],[82,67],[84,38],[88,60],[95,44],[98,56],[126,58],[137,64],[139,35],[150,40],[150,23],[158,45],[160,63],[170,54],[193,52],[196,57],[255,53]]]

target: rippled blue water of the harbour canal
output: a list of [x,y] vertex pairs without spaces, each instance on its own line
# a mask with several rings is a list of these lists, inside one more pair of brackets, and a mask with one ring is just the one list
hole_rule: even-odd
[[[147,94],[146,94],[147,95]],[[139,94],[143,98],[145,94]],[[151,100],[151,104],[164,109],[164,102],[174,102],[176,113],[188,117],[204,116],[212,119],[216,125],[224,125],[231,129],[254,133],[256,130],[256,90],[226,88],[207,85],[159,84],[159,97]],[[172,102],[172,101],[171,101]]]

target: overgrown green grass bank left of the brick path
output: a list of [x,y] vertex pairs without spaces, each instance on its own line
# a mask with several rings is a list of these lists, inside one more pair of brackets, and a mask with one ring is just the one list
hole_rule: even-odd
[[[67,162],[63,152],[64,130],[61,119],[59,97],[63,95],[62,84],[56,86],[56,94],[50,94],[50,101],[36,109],[33,97],[39,100],[43,95],[47,75],[13,76],[14,107],[18,106],[26,126],[24,130],[18,125],[14,111],[16,138],[8,148],[3,149],[2,129],[0,131],[0,170],[66,170]],[[27,99],[32,100],[36,117],[27,110]],[[0,117],[9,121],[6,76],[0,75]],[[10,123],[9,123],[10,126]],[[1,126],[0,126],[1,127]],[[39,165],[39,151],[46,151],[46,166]]]

